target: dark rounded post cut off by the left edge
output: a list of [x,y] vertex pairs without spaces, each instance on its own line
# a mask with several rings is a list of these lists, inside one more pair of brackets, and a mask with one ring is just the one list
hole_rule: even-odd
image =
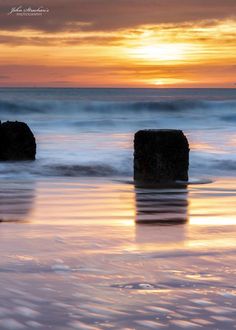
[[27,124],[0,122],[0,161],[34,160],[35,155],[35,137]]

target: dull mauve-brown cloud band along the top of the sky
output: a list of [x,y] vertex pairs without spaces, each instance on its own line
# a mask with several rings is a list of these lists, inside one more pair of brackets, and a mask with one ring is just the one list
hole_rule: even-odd
[[[20,5],[29,7],[23,0]],[[0,28],[59,31],[114,31],[133,26],[223,19],[236,13],[235,0],[34,0],[43,16],[8,15],[15,0],[1,1]]]

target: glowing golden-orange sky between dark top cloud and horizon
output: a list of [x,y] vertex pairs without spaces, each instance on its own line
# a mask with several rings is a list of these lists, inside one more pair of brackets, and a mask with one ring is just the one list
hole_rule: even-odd
[[2,87],[235,87],[236,20],[0,32]]

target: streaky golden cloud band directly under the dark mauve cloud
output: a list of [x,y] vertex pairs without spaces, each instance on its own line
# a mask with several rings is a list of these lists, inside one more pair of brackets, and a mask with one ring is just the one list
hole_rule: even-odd
[[[9,46],[129,46],[135,42],[201,43],[218,47],[235,46],[235,20],[205,20],[185,23],[146,25],[115,31],[79,31],[45,33],[39,31],[2,31],[0,44]],[[222,48],[222,47],[221,47]]]

